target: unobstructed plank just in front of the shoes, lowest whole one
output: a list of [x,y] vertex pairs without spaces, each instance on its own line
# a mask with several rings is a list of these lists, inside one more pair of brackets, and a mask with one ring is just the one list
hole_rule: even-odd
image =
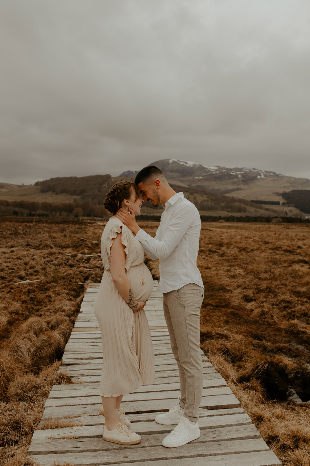
[[[124,445],[125,446],[125,445]],[[176,452],[175,448],[163,448],[162,446],[150,446],[148,448],[124,448],[123,445],[117,445],[117,449],[97,452],[79,452],[78,454],[60,453],[33,455],[30,459],[40,462],[40,466],[49,466],[52,462],[73,463],[76,466],[98,465],[100,464],[119,464],[124,459],[130,459],[131,462],[147,461],[152,459],[173,459],[176,454],[181,458],[193,458],[197,456],[208,457],[214,455],[261,452],[269,450],[263,439],[250,440],[231,440],[224,442],[200,442],[200,439],[193,440],[187,445],[179,446]],[[130,452],[129,452],[130,450]],[[123,454],[120,454],[120,451]]]

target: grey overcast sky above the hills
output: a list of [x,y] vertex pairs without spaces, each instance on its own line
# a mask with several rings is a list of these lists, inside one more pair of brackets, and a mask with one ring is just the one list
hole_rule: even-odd
[[162,158],[310,178],[309,0],[0,0],[0,182]]

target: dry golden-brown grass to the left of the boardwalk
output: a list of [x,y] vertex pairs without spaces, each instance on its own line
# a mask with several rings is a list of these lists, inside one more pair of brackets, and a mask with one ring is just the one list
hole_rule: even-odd
[[71,383],[58,361],[87,283],[101,280],[103,226],[0,220],[0,465],[26,466],[51,387]]

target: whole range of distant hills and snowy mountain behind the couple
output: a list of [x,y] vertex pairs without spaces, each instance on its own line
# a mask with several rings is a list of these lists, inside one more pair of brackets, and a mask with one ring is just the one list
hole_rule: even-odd
[[[157,160],[152,165],[163,170],[174,189],[183,191],[202,215],[303,217],[309,212],[305,198],[300,194],[310,193],[310,180],[306,178],[292,178],[256,168],[209,167],[177,159]],[[2,183],[0,199],[10,203],[83,204],[79,208],[86,211],[86,205],[103,206],[106,192],[114,183],[134,180],[136,174],[137,171],[128,170],[119,177],[105,174],[50,178],[35,185]],[[292,191],[292,187],[296,189]],[[290,197],[290,192],[298,194]],[[10,206],[3,206],[3,209],[8,210]],[[23,208],[22,205],[14,206]],[[161,207],[154,209],[152,204],[145,202],[141,214],[158,215],[162,211]]]

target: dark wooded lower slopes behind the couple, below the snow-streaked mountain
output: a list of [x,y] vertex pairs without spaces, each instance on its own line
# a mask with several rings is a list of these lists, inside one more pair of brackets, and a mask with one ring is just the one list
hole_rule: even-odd
[[[36,216],[36,217],[101,217],[108,218],[109,213],[104,208],[106,192],[110,187],[124,179],[133,180],[133,177],[111,177],[111,175],[94,175],[86,177],[58,177],[50,178],[44,181],[38,181],[36,186],[40,187],[40,192],[53,193],[53,200],[49,202],[20,200],[0,200],[0,216]],[[271,201],[259,201],[259,203],[250,200],[240,199],[235,196],[217,194],[208,192],[203,189],[188,187],[184,185],[171,184],[176,192],[183,191],[185,198],[189,199],[199,210],[201,215],[227,216],[230,214],[237,216],[263,216],[263,217],[301,217],[301,212],[294,212],[293,209],[279,205],[268,205]],[[69,201],[63,201],[61,198],[64,193],[70,195]],[[292,196],[292,193],[297,193]],[[302,194],[300,194],[302,193]],[[307,195],[310,191],[292,191],[284,193],[289,197],[287,204],[295,204],[306,208]],[[57,199],[59,198],[59,202]],[[40,198],[39,198],[40,199]],[[55,200],[54,200],[55,199]],[[262,205],[261,202],[266,202]],[[298,204],[299,202],[299,204]],[[272,201],[275,203],[275,201]],[[279,202],[277,201],[277,204]],[[287,212],[285,211],[287,209]],[[154,208],[151,203],[144,202],[142,205],[142,215],[160,215],[162,207]],[[310,212],[309,200],[308,210]]]

